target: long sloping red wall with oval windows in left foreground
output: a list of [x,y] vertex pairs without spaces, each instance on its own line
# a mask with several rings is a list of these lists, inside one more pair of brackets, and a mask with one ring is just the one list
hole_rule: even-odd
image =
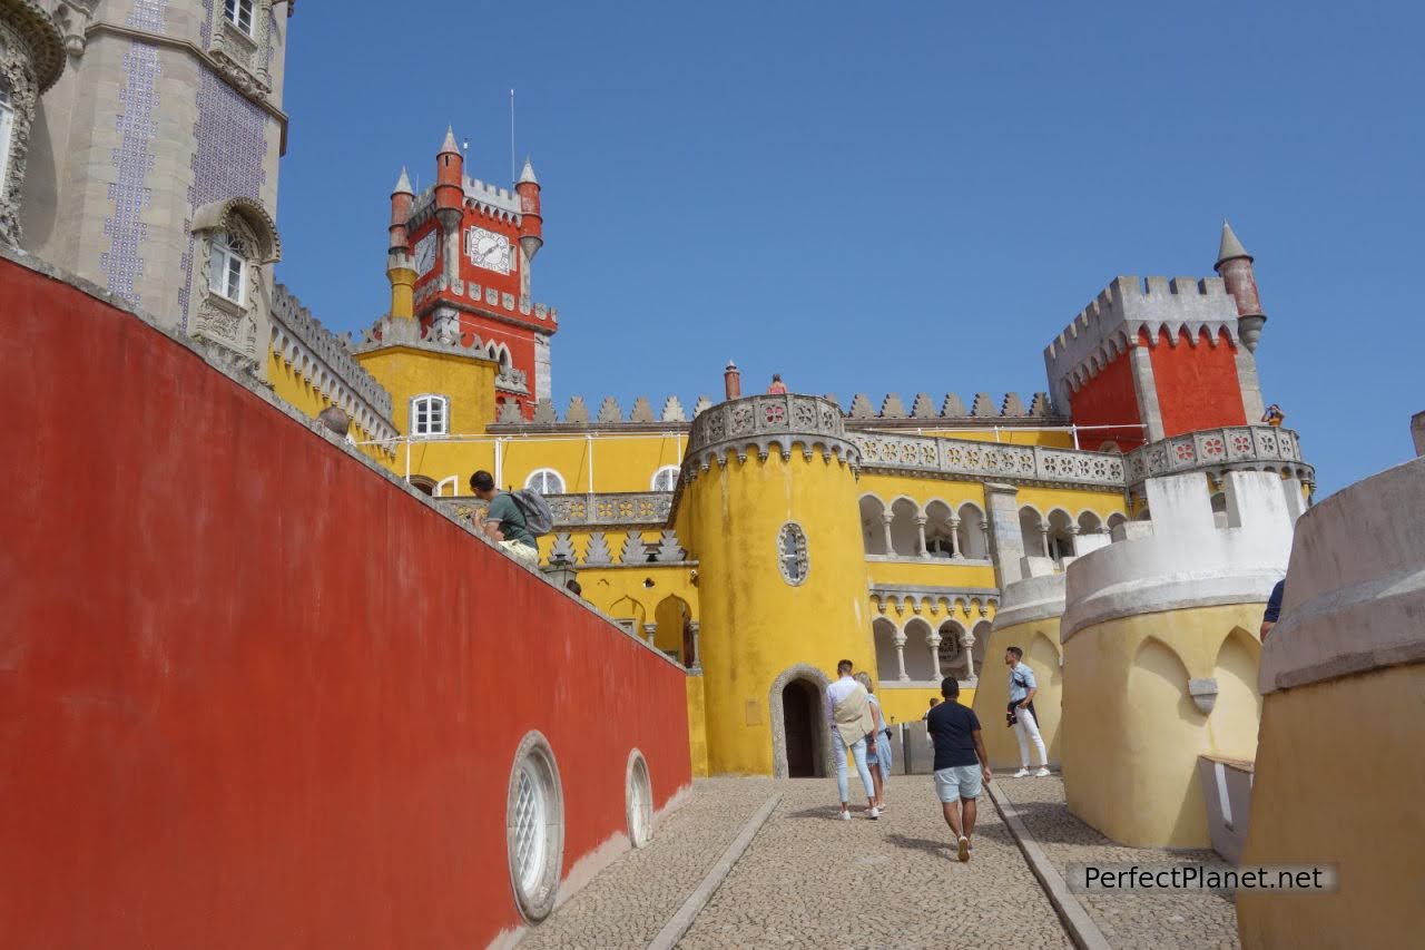
[[182,345],[0,260],[0,943],[476,947],[512,756],[564,870],[684,673]]

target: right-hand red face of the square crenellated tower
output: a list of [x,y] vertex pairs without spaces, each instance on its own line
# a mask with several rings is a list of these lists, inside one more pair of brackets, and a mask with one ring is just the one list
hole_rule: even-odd
[[1167,331],[1159,331],[1149,352],[1164,435],[1247,422],[1237,354],[1226,331],[1216,347],[1208,344],[1206,331],[1196,347],[1188,344],[1186,332],[1170,347]]

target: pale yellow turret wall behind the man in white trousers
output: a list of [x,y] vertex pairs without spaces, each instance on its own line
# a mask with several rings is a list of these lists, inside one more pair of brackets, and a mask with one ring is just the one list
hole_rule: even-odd
[[[1009,706],[1009,668],[1005,666],[1005,650],[1017,646],[1025,650],[1023,660],[1035,670],[1039,692],[1035,695],[1035,713],[1039,720],[1039,735],[1045,740],[1049,763],[1057,766],[1062,760],[1060,729],[1063,712],[1063,668],[1059,663],[1059,618],[1046,618],[1029,623],[1016,623],[1002,630],[992,630],[985,643],[985,669],[979,675],[979,692],[975,695],[975,715],[985,732],[985,752],[996,769],[1017,769],[1019,739],[1016,730],[1005,725]],[[1090,725],[1090,729],[1097,729]],[[1037,752],[1029,749],[1029,760],[1039,765]]]

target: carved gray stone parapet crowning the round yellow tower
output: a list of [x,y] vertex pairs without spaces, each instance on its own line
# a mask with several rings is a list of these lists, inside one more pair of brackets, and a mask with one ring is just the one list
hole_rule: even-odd
[[693,421],[683,462],[684,481],[697,478],[714,462],[727,465],[730,454],[745,462],[748,451],[755,449],[758,458],[765,459],[774,445],[784,459],[799,445],[808,459],[821,452],[824,459],[835,455],[852,469],[861,466],[861,452],[846,438],[841,407],[835,402],[792,394],[755,395],[720,402]]

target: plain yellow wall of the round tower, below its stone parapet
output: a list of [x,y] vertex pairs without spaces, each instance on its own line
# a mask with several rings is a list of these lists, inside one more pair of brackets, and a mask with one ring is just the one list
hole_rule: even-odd
[[[875,666],[855,476],[819,455],[734,455],[701,474],[684,504],[701,571],[708,767],[771,775],[772,682],[799,663],[828,678],[842,658]],[[799,586],[778,569],[777,535],[788,521],[807,531]]]

